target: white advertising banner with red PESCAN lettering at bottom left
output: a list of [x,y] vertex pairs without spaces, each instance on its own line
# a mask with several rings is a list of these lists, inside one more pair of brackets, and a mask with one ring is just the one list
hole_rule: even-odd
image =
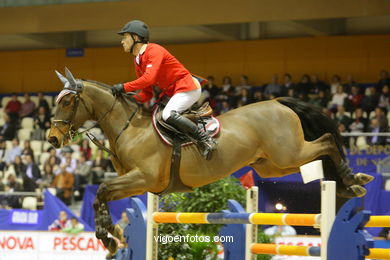
[[91,232],[0,231],[0,260],[103,260],[106,254]]

